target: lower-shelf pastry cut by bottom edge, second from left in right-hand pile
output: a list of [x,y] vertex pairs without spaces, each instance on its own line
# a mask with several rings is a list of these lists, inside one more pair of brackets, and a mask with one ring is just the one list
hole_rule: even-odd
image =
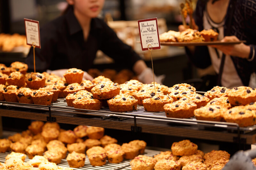
[[170,160],[170,159],[162,159],[156,162],[155,170],[165,170],[165,169],[173,169],[180,170],[180,162]]

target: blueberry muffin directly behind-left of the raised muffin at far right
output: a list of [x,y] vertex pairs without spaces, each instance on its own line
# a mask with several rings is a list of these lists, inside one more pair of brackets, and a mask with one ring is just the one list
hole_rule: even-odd
[[212,100],[215,97],[221,97],[221,96],[227,97],[229,91],[230,89],[226,87],[215,86],[211,90],[204,93],[204,96]]

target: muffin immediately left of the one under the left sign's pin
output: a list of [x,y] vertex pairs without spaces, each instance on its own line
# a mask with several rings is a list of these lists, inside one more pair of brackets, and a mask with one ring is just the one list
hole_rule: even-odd
[[18,87],[22,87],[25,85],[25,75],[19,71],[12,72],[8,78],[6,78],[6,82],[8,85],[17,85]]

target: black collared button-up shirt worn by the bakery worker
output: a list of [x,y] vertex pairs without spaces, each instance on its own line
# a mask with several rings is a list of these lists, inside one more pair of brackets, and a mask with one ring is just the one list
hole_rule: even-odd
[[[92,18],[90,33],[85,41],[73,9],[43,26],[40,38],[41,49],[35,48],[37,72],[69,68],[86,71],[92,67],[97,50],[103,51],[126,68],[132,68],[141,59],[99,18]],[[29,51],[26,63],[29,69],[34,69],[33,48]]]

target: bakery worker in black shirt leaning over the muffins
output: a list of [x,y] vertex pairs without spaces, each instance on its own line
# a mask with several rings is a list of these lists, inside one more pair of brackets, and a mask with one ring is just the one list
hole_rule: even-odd
[[[35,48],[38,72],[48,69],[62,76],[69,68],[88,70],[97,50],[101,50],[116,62],[132,68],[143,83],[153,81],[152,70],[150,71],[140,56],[118,39],[116,33],[103,20],[96,18],[104,0],[67,2],[69,7],[66,13],[40,29],[41,49]],[[26,63],[29,69],[34,68],[33,48],[30,49]],[[92,80],[86,72],[84,78]]]

